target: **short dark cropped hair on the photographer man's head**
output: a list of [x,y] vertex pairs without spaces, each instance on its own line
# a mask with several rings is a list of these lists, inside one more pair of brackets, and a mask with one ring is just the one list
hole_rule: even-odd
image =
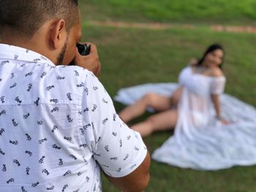
[[0,33],[10,28],[32,37],[53,18],[66,20],[69,31],[78,23],[78,0],[0,0]]

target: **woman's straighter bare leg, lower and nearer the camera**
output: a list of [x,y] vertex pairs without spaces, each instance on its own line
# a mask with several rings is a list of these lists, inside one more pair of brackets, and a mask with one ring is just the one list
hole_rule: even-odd
[[178,120],[178,110],[167,110],[156,115],[151,115],[145,121],[131,126],[142,137],[150,135],[154,131],[164,131],[174,128]]

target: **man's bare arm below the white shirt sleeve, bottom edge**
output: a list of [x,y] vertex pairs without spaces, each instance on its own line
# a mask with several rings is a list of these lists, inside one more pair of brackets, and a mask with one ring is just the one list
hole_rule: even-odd
[[148,181],[150,178],[149,174],[149,166],[150,166],[150,155],[147,153],[146,158],[135,169],[132,173],[128,174],[125,177],[110,177],[107,174],[108,180],[110,183],[115,185],[117,188],[120,188],[123,192],[140,192],[143,191],[148,185]]

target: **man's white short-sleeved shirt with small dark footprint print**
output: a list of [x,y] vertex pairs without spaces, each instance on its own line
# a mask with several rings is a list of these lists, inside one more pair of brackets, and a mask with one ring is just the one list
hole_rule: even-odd
[[146,152],[94,74],[0,44],[0,191],[102,191],[100,169],[124,177]]

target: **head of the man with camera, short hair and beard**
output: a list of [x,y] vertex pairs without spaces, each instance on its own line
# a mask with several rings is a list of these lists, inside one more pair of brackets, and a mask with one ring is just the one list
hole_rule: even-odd
[[0,0],[1,42],[67,64],[79,41],[78,0]]

